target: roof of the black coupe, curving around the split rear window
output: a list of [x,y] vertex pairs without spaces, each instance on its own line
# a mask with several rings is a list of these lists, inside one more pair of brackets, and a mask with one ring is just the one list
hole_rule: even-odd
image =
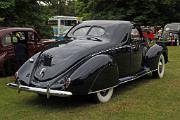
[[74,30],[84,26],[99,26],[103,27],[106,31],[106,34],[101,37],[113,42],[119,42],[119,40],[122,40],[125,35],[129,33],[133,25],[134,23],[130,21],[122,20],[88,20],[76,25],[68,34],[71,36],[73,35]]

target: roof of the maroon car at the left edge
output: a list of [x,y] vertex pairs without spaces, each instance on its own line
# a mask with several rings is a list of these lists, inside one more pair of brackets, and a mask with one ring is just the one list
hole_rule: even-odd
[[16,31],[33,31],[35,32],[34,29],[32,28],[23,28],[23,27],[0,27],[0,37],[11,32],[16,32]]

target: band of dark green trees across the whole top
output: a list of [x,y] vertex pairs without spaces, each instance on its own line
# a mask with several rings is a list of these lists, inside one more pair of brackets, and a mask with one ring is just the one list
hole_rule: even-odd
[[[44,4],[40,4],[43,2]],[[1,0],[0,26],[34,27],[46,36],[54,15],[130,20],[142,25],[180,22],[179,0]]]

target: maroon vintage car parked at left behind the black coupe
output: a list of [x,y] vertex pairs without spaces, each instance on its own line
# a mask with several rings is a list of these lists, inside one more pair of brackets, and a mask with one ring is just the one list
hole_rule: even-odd
[[41,41],[32,28],[0,28],[0,75],[12,74],[53,41]]

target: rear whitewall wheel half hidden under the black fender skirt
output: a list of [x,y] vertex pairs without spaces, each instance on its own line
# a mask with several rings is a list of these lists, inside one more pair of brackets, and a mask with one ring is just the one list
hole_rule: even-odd
[[113,94],[113,88],[109,88],[107,90],[99,91],[94,94],[95,101],[98,103],[108,102]]

